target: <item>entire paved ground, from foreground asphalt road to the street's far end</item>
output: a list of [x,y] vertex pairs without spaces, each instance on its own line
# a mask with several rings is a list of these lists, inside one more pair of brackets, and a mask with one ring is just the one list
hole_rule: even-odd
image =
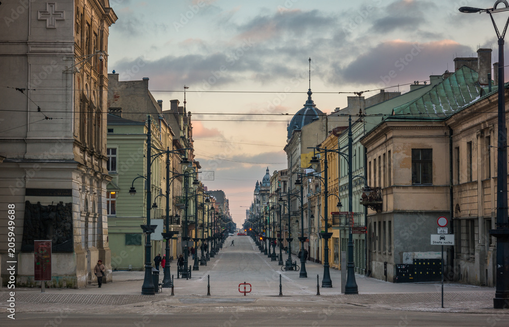
[[[230,246],[231,240],[235,246]],[[174,265],[172,272],[175,273]],[[493,288],[439,283],[394,284],[356,275],[358,295],[341,294],[340,272],[332,288],[320,288],[323,266],[307,264],[309,278],[281,272],[247,236],[232,236],[207,266],[189,280],[175,279],[175,296],[140,295],[144,272],[115,272],[114,282],[83,289],[16,289],[16,321],[7,319],[8,294],[0,292],[0,325],[475,325],[506,326],[509,310],[492,309]],[[211,296],[207,296],[210,276]],[[282,293],[279,294],[281,276]],[[251,284],[246,296],[239,283]],[[476,313],[475,315],[468,313]],[[169,315],[168,315],[169,314]],[[191,315],[190,315],[191,314]],[[193,322],[189,323],[189,317]],[[150,319],[149,322],[144,319]],[[60,321],[60,322],[59,322]],[[152,323],[150,323],[152,322]],[[156,322],[155,324],[153,324]],[[47,324],[48,323],[48,324]]]

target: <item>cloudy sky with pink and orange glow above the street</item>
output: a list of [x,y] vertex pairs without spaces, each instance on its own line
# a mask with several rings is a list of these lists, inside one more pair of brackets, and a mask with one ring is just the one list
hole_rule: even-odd
[[239,226],[266,168],[287,168],[286,128],[307,99],[309,57],[313,100],[323,112],[346,106],[348,94],[338,92],[394,85],[407,92],[404,84],[452,71],[455,57],[476,56],[479,47],[495,47],[498,61],[489,16],[458,11],[494,3],[110,0],[119,20],[110,28],[108,69],[120,80],[149,77],[166,108],[172,99],[182,103],[189,86],[196,159],[215,171],[205,184],[227,194]]

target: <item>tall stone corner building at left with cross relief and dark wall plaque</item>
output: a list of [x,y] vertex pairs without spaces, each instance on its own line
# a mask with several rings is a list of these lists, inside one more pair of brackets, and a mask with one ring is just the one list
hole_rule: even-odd
[[[2,216],[15,205],[18,285],[34,286],[34,240],[52,241],[47,286],[84,287],[95,263],[111,281],[106,216],[108,0],[10,2],[0,30]],[[23,9],[23,10],[21,10]],[[7,237],[0,241],[5,262]],[[3,265],[5,267],[5,265]],[[5,280],[6,271],[2,271]],[[38,283],[37,283],[38,284]]]

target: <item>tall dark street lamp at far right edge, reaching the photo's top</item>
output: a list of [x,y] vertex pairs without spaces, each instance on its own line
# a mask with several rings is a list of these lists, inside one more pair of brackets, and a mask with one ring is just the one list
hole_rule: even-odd
[[[500,6],[499,5],[503,5]],[[497,159],[497,221],[496,229],[490,234],[497,239],[496,291],[493,299],[495,309],[509,308],[509,221],[507,219],[507,134],[505,129],[505,77],[504,77],[504,37],[507,32],[509,18],[502,33],[498,31],[492,13],[508,11],[506,0],[498,0],[493,8],[480,9],[461,7],[462,13],[490,14],[493,27],[498,37],[498,159]]]

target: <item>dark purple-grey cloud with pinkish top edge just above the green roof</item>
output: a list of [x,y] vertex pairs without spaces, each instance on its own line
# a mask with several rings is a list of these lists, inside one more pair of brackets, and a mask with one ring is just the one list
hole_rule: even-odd
[[397,85],[427,79],[432,73],[441,74],[453,54],[468,56],[472,52],[470,47],[451,40],[428,43],[392,40],[368,49],[344,67],[339,62],[334,63],[329,80],[337,84],[373,85],[383,81],[385,76],[395,75],[390,78],[390,84]]

